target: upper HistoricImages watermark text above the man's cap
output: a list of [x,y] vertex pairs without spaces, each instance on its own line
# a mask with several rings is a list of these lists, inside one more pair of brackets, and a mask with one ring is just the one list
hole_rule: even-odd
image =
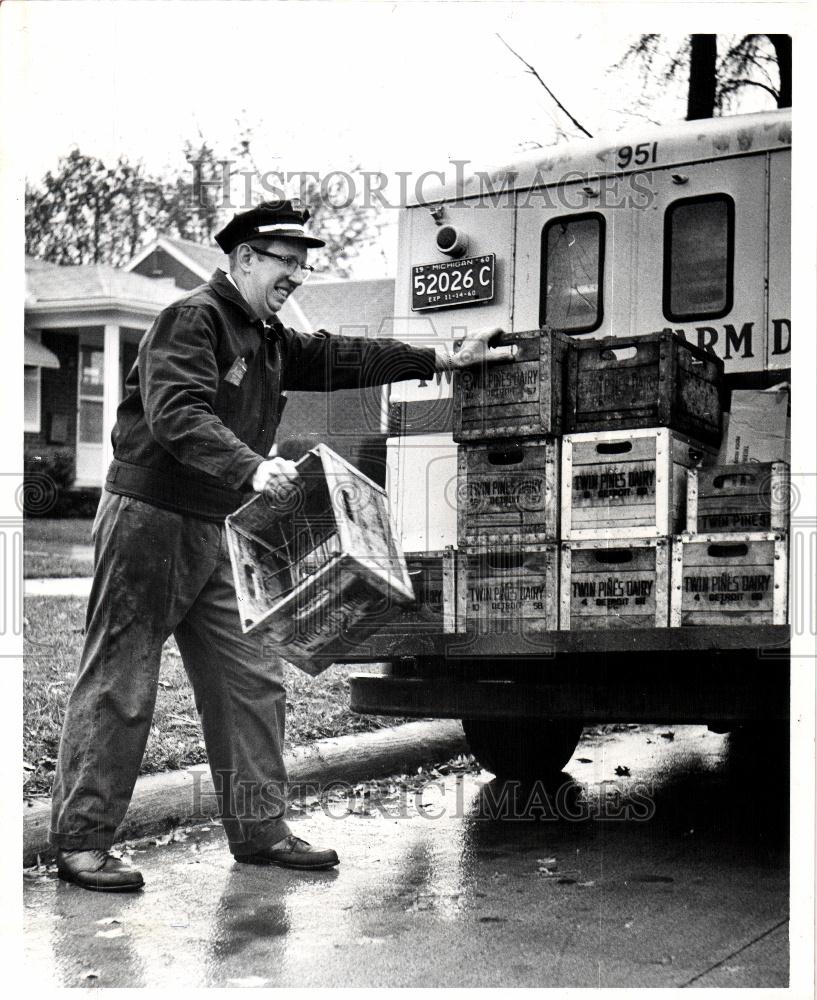
[[478,208],[581,209],[588,197],[594,208],[647,209],[655,201],[653,175],[632,171],[612,175],[580,170],[556,172],[546,166],[525,173],[514,168],[469,169],[470,160],[450,160],[445,170],[243,170],[233,160],[191,160],[191,195],[206,207],[246,211],[268,199],[294,198],[308,203],[318,194],[334,209],[359,205],[397,209],[447,197],[467,198]]

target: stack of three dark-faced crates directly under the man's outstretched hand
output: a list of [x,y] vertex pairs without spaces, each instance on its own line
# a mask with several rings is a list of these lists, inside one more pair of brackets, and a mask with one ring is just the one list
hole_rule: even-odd
[[508,363],[455,379],[457,625],[535,637],[558,628],[559,468],[572,342],[505,334]]

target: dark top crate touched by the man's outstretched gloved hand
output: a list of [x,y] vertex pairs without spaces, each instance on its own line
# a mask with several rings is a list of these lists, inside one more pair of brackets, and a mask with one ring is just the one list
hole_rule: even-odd
[[492,346],[516,345],[510,362],[454,373],[454,440],[561,434],[570,337],[555,330],[505,333]]

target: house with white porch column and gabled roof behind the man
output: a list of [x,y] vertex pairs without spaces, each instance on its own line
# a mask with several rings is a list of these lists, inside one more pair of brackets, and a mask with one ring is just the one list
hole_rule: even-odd
[[[26,259],[25,447],[68,449],[74,486],[99,488],[111,460],[110,430],[124,379],[154,317],[207,281],[225,257],[188,240],[160,237],[124,268],[60,266]],[[391,279],[313,280],[279,316],[305,332],[390,336]],[[297,455],[323,441],[383,481],[381,389],[289,394],[278,442]]]

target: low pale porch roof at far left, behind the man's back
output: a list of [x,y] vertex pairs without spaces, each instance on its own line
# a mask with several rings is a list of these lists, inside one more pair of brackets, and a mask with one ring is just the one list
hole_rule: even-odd
[[26,257],[26,308],[138,307],[158,312],[179,298],[169,278],[145,278],[109,264],[58,265]]

